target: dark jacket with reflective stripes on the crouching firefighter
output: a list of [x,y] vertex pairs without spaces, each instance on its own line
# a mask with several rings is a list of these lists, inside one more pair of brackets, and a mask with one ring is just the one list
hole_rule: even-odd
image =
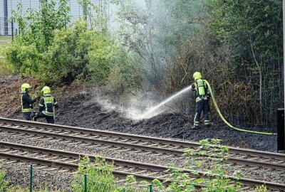
[[53,117],[53,114],[54,114],[53,106],[58,108],[58,102],[53,96],[49,94],[41,97],[39,105],[40,107],[38,108],[38,111],[50,117]]

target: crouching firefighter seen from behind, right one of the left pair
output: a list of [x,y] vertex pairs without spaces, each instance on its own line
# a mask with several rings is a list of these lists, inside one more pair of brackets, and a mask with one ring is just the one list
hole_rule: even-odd
[[48,86],[43,87],[41,90],[43,97],[41,97],[39,102],[38,113],[33,117],[33,121],[38,118],[46,118],[46,122],[54,123],[54,107],[58,108],[58,102],[51,96],[51,88]]

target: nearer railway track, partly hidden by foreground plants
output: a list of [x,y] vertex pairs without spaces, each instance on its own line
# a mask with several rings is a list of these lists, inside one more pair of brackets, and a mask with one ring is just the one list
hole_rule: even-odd
[[[0,160],[12,160],[21,163],[32,163],[41,166],[41,169],[58,168],[68,171],[76,171],[78,169],[79,157],[86,156],[88,154],[80,154],[70,151],[62,151],[56,149],[47,149],[37,146],[28,146],[24,144],[14,144],[9,142],[0,142]],[[91,160],[96,156],[88,155]],[[135,161],[126,161],[123,159],[113,159],[104,157],[104,159],[110,163],[113,163],[115,170],[113,174],[119,178],[125,178],[128,175],[133,175],[138,180],[152,181],[157,178],[160,181],[166,181],[167,176],[165,171],[170,169],[168,166],[161,166],[155,164],[145,164]],[[190,169],[179,169],[182,172],[190,174],[191,178],[211,177],[205,172],[197,172]],[[234,181],[237,178],[232,178]],[[267,188],[272,190],[285,191],[285,185],[281,183],[272,183],[258,181],[248,178],[239,178],[239,182],[244,184],[242,190],[249,190],[254,186],[260,186],[265,184]],[[199,186],[198,186],[199,187]]]

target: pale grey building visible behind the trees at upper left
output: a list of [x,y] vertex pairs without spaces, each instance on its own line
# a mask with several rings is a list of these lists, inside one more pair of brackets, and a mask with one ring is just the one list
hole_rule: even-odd
[[[47,0],[51,1],[51,0]],[[59,0],[53,0],[58,2]],[[104,0],[90,0],[95,5],[103,4]],[[0,36],[11,36],[12,32],[15,34],[19,33],[19,27],[17,23],[10,23],[9,18],[11,18],[12,10],[17,10],[17,5],[21,3],[23,7],[23,14],[26,14],[28,9],[38,10],[40,3],[39,0],[0,0]],[[70,16],[71,21],[78,19],[83,16],[83,11],[78,5],[77,0],[69,0],[68,5],[71,8]],[[115,21],[115,13],[118,11],[117,6],[113,4],[107,5],[107,14],[109,18],[109,26],[111,28],[118,28]],[[13,28],[13,30],[12,30]]]

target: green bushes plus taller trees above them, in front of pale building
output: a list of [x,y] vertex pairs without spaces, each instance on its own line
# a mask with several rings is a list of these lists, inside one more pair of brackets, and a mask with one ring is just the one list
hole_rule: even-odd
[[11,47],[3,50],[7,65],[13,66],[16,73],[31,75],[47,85],[86,79],[95,84],[107,83],[109,90],[120,90],[118,93],[140,86],[140,60],[120,48],[106,33],[105,8],[99,9],[88,0],[79,3],[86,11],[90,28],[83,19],[67,26],[66,0],[58,2],[58,9],[55,1],[41,1],[41,9],[29,10],[26,16],[22,16],[19,4],[11,21],[19,23],[21,33]]

